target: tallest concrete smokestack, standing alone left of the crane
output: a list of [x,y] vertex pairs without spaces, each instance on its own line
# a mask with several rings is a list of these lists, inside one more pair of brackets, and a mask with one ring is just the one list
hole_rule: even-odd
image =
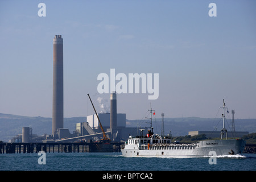
[[53,39],[52,135],[63,128],[63,39]]

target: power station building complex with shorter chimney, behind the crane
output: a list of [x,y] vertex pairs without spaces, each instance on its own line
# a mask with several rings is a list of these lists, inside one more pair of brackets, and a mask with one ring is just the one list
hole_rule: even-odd
[[[100,121],[99,121],[100,119]],[[68,129],[58,128],[54,137],[49,135],[45,142],[74,142],[77,140],[101,140],[102,129],[112,142],[125,141],[137,128],[126,127],[126,114],[117,113],[117,95],[110,94],[110,113],[97,113],[88,115],[85,122],[76,123],[75,131],[70,133]]]

